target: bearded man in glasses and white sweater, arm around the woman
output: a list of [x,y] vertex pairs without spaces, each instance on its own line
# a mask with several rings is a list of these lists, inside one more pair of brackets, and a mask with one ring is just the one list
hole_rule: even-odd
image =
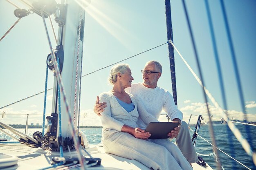
[[[182,121],[182,112],[174,104],[171,93],[157,86],[157,81],[162,74],[161,64],[157,61],[149,61],[144,69],[141,70],[141,73],[143,75],[143,83],[132,84],[130,88],[126,88],[126,92],[139,99],[146,111],[155,118],[158,119],[162,110],[164,110],[172,121],[179,121],[180,126],[172,130],[168,136],[171,138],[176,137],[176,144],[189,163],[197,162],[198,155],[193,147],[188,125],[185,121]],[[99,103],[99,97],[97,97],[94,112],[101,116],[100,113],[104,111],[105,107],[106,103]],[[138,125],[141,129],[146,128],[146,124],[140,118],[138,119]]]

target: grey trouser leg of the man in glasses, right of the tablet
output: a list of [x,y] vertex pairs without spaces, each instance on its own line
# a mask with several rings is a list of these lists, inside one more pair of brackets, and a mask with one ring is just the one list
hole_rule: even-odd
[[199,161],[191,141],[188,124],[185,121],[182,121],[182,125],[180,126],[180,134],[176,137],[176,144],[189,163]]

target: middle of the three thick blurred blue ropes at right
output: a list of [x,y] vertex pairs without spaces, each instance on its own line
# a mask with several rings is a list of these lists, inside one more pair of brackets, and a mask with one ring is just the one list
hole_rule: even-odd
[[[221,89],[221,95],[222,95],[222,99],[223,99],[223,106],[224,109],[227,110],[227,99],[226,99],[226,95],[225,95],[225,89],[224,89],[224,83],[223,83],[223,78],[222,78],[222,71],[220,68],[220,60],[219,60],[219,55],[218,55],[218,51],[217,51],[217,45],[216,45],[216,39],[215,39],[215,34],[213,31],[213,23],[212,23],[212,19],[211,19],[211,13],[210,13],[210,8],[209,8],[209,3],[208,0],[204,0],[205,2],[205,6],[206,6],[206,11],[207,11],[207,17],[208,17],[208,21],[209,21],[209,26],[210,26],[210,33],[211,33],[211,40],[212,40],[212,44],[213,44],[213,51],[214,51],[214,56],[215,56],[215,60],[216,60],[216,66],[217,66],[217,71],[218,71],[218,77],[220,80],[220,89]],[[225,114],[228,117],[228,113],[227,111],[225,111]],[[229,145],[231,146],[230,148],[234,148],[234,144],[233,144],[233,139],[231,134],[233,134],[231,132],[231,130],[229,129],[229,126],[227,127],[227,132],[228,132],[228,140],[229,140]],[[235,152],[234,149],[229,149],[229,152],[231,153],[231,156],[233,158],[235,158]],[[232,163],[232,169],[234,169],[234,163],[235,161],[232,159],[233,163]]]

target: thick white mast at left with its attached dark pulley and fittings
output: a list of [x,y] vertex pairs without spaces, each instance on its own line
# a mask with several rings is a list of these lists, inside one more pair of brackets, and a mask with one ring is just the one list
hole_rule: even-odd
[[[61,80],[53,69],[52,114],[47,117],[49,123],[45,134],[49,138],[49,147],[54,151],[58,150],[60,144],[64,144],[63,150],[67,149],[66,145],[72,146],[72,137],[77,126],[84,18],[84,9],[73,0],[66,0],[61,4],[59,15],[55,19],[59,29],[54,54],[59,61]],[[51,61],[52,54],[49,54],[47,64],[50,69],[53,67]],[[65,96],[64,92],[59,91],[65,91]]]

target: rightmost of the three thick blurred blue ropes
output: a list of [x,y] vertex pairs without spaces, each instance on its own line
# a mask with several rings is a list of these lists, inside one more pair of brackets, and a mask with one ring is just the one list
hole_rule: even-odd
[[[227,14],[226,14],[225,5],[224,5],[223,0],[220,0],[220,4],[221,4],[221,9],[222,9],[222,13],[223,13],[224,22],[225,22],[225,29],[226,29],[226,32],[227,32],[227,38],[228,38],[228,42],[229,42],[229,48],[230,48],[230,52],[231,52],[234,71],[235,71],[235,75],[236,75],[236,83],[237,83],[237,86],[238,86],[238,93],[239,93],[239,97],[240,97],[240,103],[242,105],[242,110],[243,110],[243,114],[244,114],[244,123],[247,123],[247,113],[246,113],[246,110],[245,110],[245,100],[244,100],[243,91],[242,91],[242,84],[241,84],[240,76],[239,76],[239,73],[238,73],[236,55],[235,55],[235,51],[234,51],[233,41],[231,39],[231,33],[229,31],[230,29],[229,29]],[[246,128],[246,132],[247,132],[247,140],[249,141],[250,146],[252,146],[252,137],[250,135],[251,134],[250,128],[249,128],[249,126],[245,126],[245,128]]]

